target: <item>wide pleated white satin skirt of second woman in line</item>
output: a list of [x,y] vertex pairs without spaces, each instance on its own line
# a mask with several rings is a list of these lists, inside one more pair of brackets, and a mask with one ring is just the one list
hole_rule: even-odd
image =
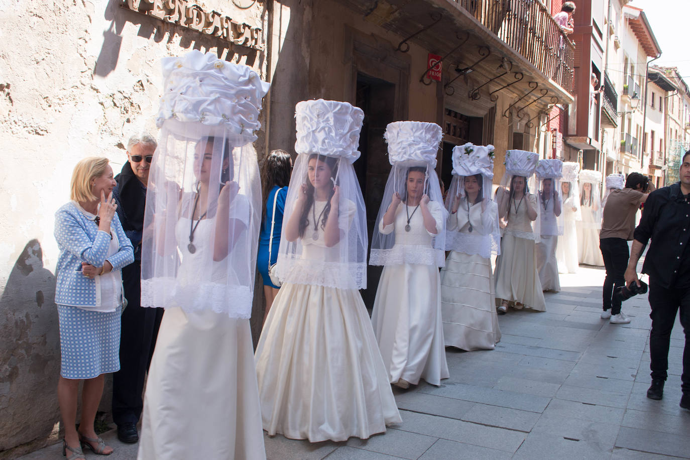
[[366,439],[401,421],[357,290],[285,283],[266,318],[256,368],[270,435]]

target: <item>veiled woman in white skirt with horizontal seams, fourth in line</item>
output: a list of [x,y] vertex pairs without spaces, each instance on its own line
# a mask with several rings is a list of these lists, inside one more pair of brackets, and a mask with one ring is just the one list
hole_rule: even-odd
[[446,266],[441,269],[441,311],[446,346],[493,350],[501,339],[491,254],[501,241],[491,199],[493,146],[453,148],[453,180],[446,197]]

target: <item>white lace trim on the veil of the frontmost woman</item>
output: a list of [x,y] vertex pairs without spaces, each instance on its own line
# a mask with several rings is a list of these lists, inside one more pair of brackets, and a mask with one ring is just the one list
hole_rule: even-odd
[[189,312],[213,310],[230,318],[249,319],[253,292],[249,286],[199,282],[180,285],[173,277],[141,280],[142,307],[179,307]]

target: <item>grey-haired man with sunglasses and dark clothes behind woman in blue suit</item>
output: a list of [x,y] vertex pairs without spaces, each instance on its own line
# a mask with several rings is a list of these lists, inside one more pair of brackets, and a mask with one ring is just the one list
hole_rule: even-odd
[[130,137],[128,161],[115,177],[117,187],[112,190],[122,228],[135,248],[134,263],[122,270],[128,304],[121,320],[120,370],[112,379],[112,418],[117,424],[117,437],[124,443],[139,441],[137,423],[143,408],[144,377],[163,317],[161,308],[141,307],[141,234],[148,171],[156,147],[156,140],[148,134]]

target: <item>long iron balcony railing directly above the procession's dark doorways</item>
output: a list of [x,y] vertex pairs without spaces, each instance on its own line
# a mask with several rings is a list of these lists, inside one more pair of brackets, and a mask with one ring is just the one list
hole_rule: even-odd
[[533,64],[573,92],[575,43],[536,0],[452,0]]

